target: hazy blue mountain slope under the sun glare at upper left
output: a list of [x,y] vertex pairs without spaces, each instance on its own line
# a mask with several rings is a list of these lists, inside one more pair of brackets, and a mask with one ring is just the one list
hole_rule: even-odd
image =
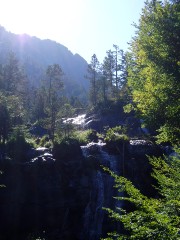
[[66,94],[87,95],[89,84],[84,78],[87,62],[65,46],[48,39],[13,34],[0,26],[0,63],[6,62],[9,52],[16,54],[33,86],[39,85],[48,65],[59,64],[65,73]]

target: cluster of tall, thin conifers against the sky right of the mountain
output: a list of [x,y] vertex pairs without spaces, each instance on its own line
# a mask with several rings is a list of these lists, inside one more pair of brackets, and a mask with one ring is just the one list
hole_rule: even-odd
[[[126,95],[127,89],[127,59],[126,54],[117,45],[113,50],[108,50],[103,63],[100,64],[96,55],[91,58],[88,65],[88,76],[90,80],[90,103],[97,107],[99,103],[106,105],[108,100],[117,100]],[[123,89],[124,88],[124,89]]]

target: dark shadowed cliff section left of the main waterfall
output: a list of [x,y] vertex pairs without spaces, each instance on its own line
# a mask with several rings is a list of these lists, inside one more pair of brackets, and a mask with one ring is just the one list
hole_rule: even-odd
[[91,173],[81,158],[55,161],[45,152],[28,163],[7,166],[0,236],[14,240],[21,239],[19,233],[46,231],[50,239],[79,239],[91,188]]

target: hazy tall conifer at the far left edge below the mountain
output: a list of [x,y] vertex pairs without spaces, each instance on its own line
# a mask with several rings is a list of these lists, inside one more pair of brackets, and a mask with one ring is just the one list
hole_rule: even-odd
[[4,143],[9,130],[24,120],[26,89],[26,76],[11,52],[6,64],[0,66],[0,141]]

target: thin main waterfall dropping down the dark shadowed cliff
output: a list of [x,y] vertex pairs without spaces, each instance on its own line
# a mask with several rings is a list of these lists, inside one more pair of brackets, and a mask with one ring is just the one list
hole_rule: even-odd
[[[119,155],[110,155],[104,150],[105,143],[89,143],[82,147],[85,158],[90,155],[96,157],[100,165],[108,167],[116,174],[120,174],[121,159]],[[117,206],[117,201],[113,196],[117,196],[113,188],[114,179],[103,170],[94,170],[91,176],[91,191],[89,202],[86,205],[83,222],[84,222],[84,239],[99,240],[102,237],[103,222],[105,211],[103,207],[113,208]],[[119,204],[118,204],[119,207]]]

